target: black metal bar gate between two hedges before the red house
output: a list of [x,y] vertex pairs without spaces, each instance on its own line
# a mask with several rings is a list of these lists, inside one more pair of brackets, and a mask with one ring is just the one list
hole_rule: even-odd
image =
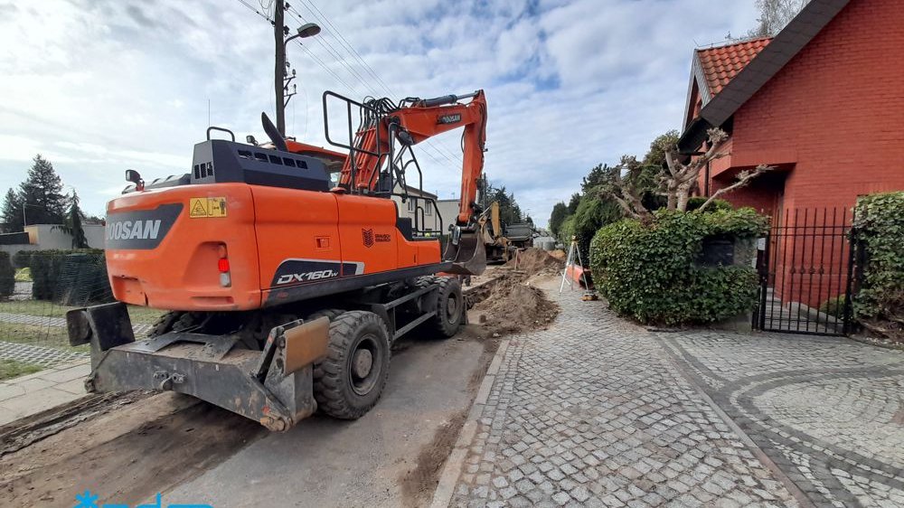
[[791,334],[852,331],[852,219],[847,208],[777,212],[758,256],[755,327]]

